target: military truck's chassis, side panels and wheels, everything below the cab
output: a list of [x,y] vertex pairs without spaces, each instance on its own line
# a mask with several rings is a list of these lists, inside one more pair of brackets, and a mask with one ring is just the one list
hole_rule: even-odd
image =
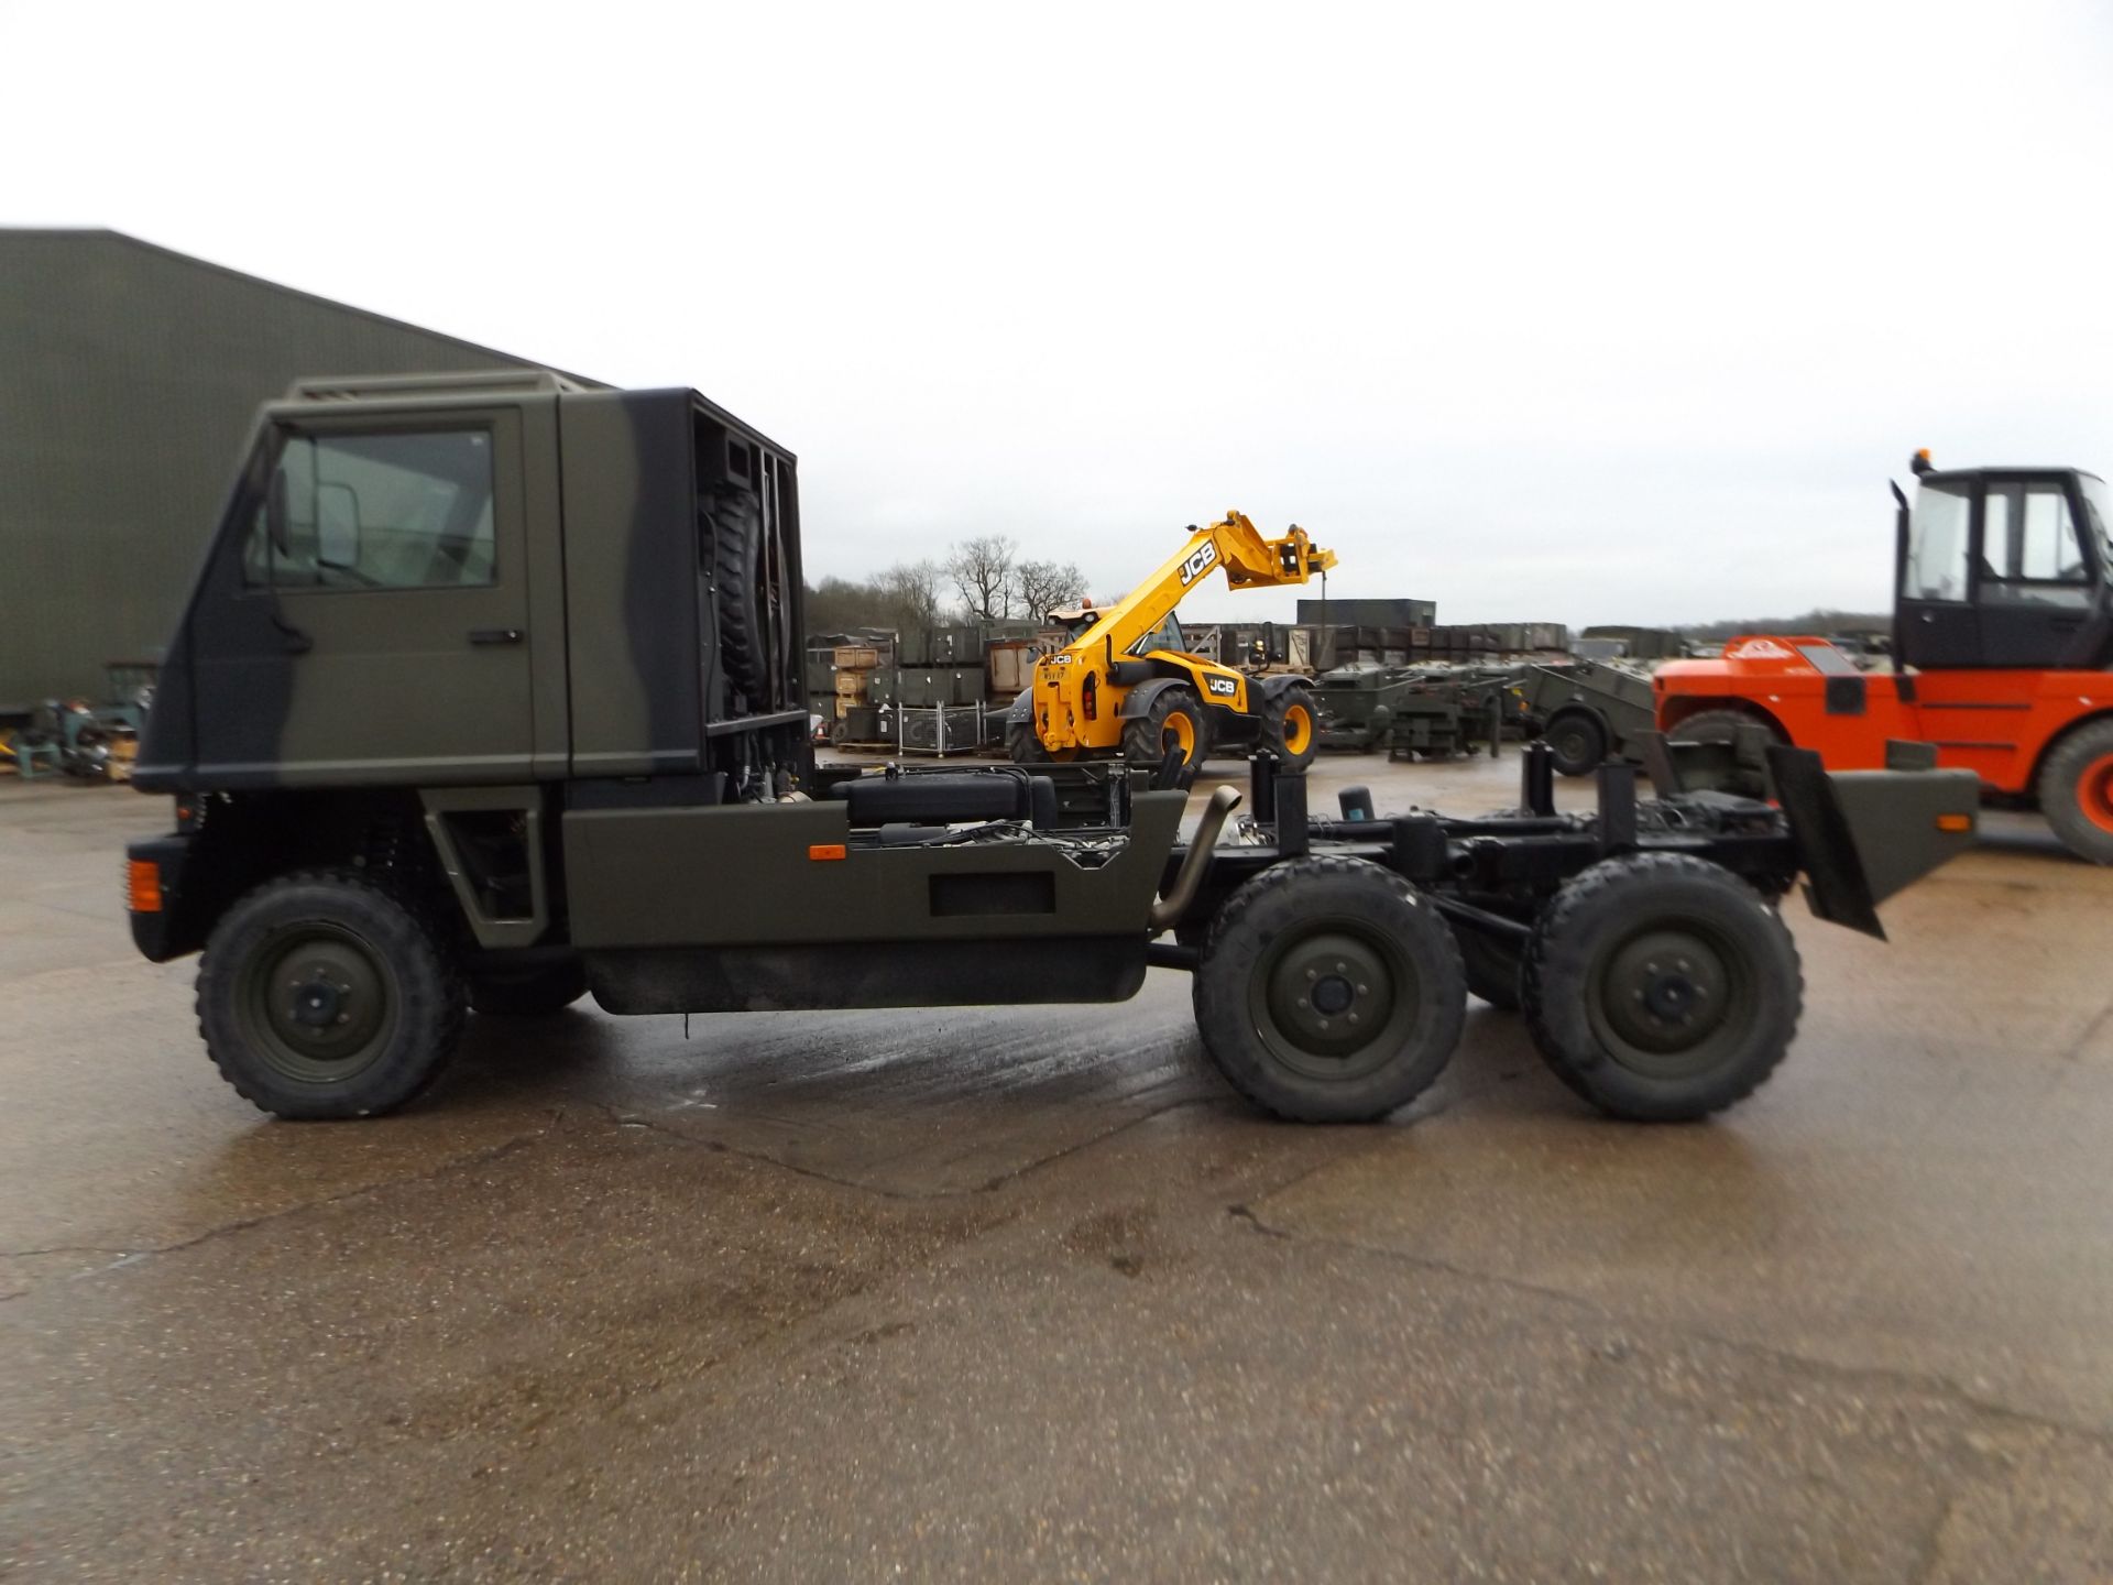
[[1555,812],[1530,746],[1517,809],[1378,818],[1352,788],[1319,818],[1304,773],[1257,754],[1232,835],[1242,797],[1221,786],[1188,841],[1173,757],[1061,792],[1021,769],[887,771],[816,799],[566,807],[564,909],[511,953],[475,951],[416,864],[275,875],[216,900],[207,940],[182,926],[207,807],[133,845],[133,932],[156,962],[205,945],[207,1048],[281,1116],[389,1112],[437,1078],[465,1010],[549,1014],[590,987],[611,1012],[1120,1002],[1158,966],[1192,974],[1207,1055],[1276,1116],[1407,1105],[1473,991],[1523,1010],[1600,1110],[1682,1120],[1747,1095],[1794,1038],[1779,898],[1802,877],[1819,919],[1883,934],[1876,902],[1971,843],[1976,782],[1828,776],[1796,748],[1764,776],[1716,744],[1654,740],[1648,761],[1659,797],[1606,765],[1591,814]]

